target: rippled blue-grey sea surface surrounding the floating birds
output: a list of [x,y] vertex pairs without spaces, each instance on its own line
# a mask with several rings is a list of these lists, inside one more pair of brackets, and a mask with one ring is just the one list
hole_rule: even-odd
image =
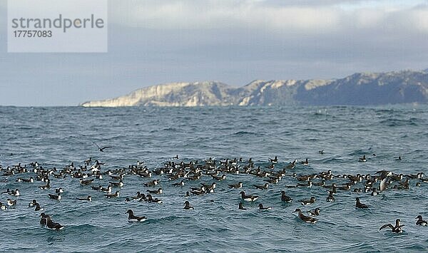
[[[378,170],[428,177],[428,106],[394,105],[383,107],[208,107],[208,108],[15,108],[0,107],[0,190],[18,188],[21,196],[11,197],[15,209],[0,210],[2,252],[422,252],[428,250],[428,227],[415,225],[415,217],[428,219],[428,183],[410,181],[409,190],[387,190],[372,197],[369,193],[339,191],[335,202],[326,202],[324,187],[286,188],[297,180],[292,173],[308,175],[332,170],[333,175],[374,174]],[[98,145],[111,145],[105,152]],[[321,155],[318,150],[325,150]],[[374,156],[375,154],[376,156]],[[173,160],[179,155],[180,160]],[[172,187],[165,175],[142,178],[126,175],[121,197],[106,199],[103,192],[79,185],[78,179],[51,177],[51,190],[40,190],[44,182],[15,182],[33,172],[1,176],[7,166],[39,162],[44,168],[61,169],[83,160],[106,162],[102,170],[135,165],[143,161],[150,170],[165,162],[208,158],[253,158],[255,166],[267,168],[268,158],[277,156],[273,171],[288,162],[308,158],[310,165],[298,164],[287,170],[282,180],[269,190],[257,190],[265,178],[230,175],[218,181],[214,193],[184,197],[189,187],[211,183],[203,175]],[[358,162],[362,155],[367,162]],[[397,156],[402,160],[396,160]],[[243,162],[240,166],[245,165]],[[146,192],[143,182],[159,179],[164,192],[156,197],[162,205],[126,202],[137,191]],[[111,179],[95,180],[106,187]],[[228,184],[243,182],[247,194],[260,196],[245,202],[248,210],[238,210],[240,189]],[[327,181],[327,185],[347,182]],[[49,193],[62,187],[61,202]],[[362,187],[361,183],[352,186]],[[113,191],[116,189],[113,189]],[[292,203],[280,200],[280,191]],[[76,197],[91,195],[92,202]],[[315,196],[316,202],[303,207],[297,200]],[[5,203],[9,195],[0,195]],[[355,197],[370,205],[355,209]],[[66,225],[61,231],[39,224],[40,212],[27,207],[36,199],[52,220]],[[195,210],[183,210],[189,200]],[[258,204],[271,206],[261,212]],[[320,207],[319,221],[306,224],[292,213]],[[131,209],[148,217],[130,223],[125,215]],[[393,234],[382,224],[404,224],[402,234]]]

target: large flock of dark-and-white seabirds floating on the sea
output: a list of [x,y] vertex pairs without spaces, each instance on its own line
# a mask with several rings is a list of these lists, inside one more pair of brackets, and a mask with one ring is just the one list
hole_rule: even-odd
[[[96,146],[100,152],[104,152],[104,150],[107,148],[111,148],[110,146],[102,148],[98,145]],[[324,151],[320,150],[319,153],[322,155],[324,154]],[[21,165],[21,163],[19,163],[18,165],[11,167],[2,167],[0,165],[0,172],[4,177],[1,182],[9,182],[9,179],[22,183],[35,183],[36,181],[41,183],[43,182],[43,185],[38,186],[39,189],[51,191],[51,193],[46,194],[46,197],[49,197],[52,200],[61,201],[61,193],[63,193],[64,190],[62,187],[51,189],[51,180],[71,177],[78,180],[82,187],[90,187],[92,190],[104,192],[106,198],[115,198],[119,197],[120,191],[113,191],[113,188],[120,189],[121,187],[124,187],[125,177],[133,175],[142,177],[144,181],[143,185],[149,189],[146,190],[146,193],[136,192],[136,195],[126,197],[125,201],[153,202],[159,204],[162,203],[162,200],[153,196],[161,196],[163,193],[163,188],[159,187],[161,185],[161,180],[151,179],[151,177],[156,175],[158,175],[158,177],[165,177],[168,179],[166,181],[162,181],[162,185],[170,185],[173,187],[185,187],[186,182],[198,181],[201,178],[210,178],[213,180],[212,183],[200,182],[200,187],[189,187],[188,191],[185,193],[185,197],[189,197],[190,195],[206,195],[215,192],[216,182],[226,180],[228,174],[245,174],[262,178],[265,181],[263,185],[245,185],[245,187],[251,187],[255,190],[267,190],[271,187],[271,185],[277,184],[286,175],[290,175],[290,177],[293,177],[295,180],[297,180],[297,184],[285,185],[285,188],[324,187],[328,192],[328,195],[325,199],[326,202],[335,202],[335,195],[340,191],[367,192],[367,194],[374,196],[385,190],[409,190],[410,182],[412,181],[416,181],[415,186],[421,186],[423,183],[428,182],[428,179],[424,178],[423,172],[419,172],[416,175],[403,175],[395,174],[387,170],[380,170],[374,175],[333,175],[331,170],[308,175],[297,175],[296,172],[298,172],[298,170],[295,170],[296,165],[309,165],[309,161],[307,159],[303,161],[294,160],[275,170],[275,168],[278,167],[275,166],[278,162],[276,156],[275,158],[269,159],[267,167],[263,168],[256,166],[252,158],[248,160],[243,160],[243,158],[235,158],[233,160],[213,160],[212,158],[209,158],[208,160],[201,162],[180,162],[177,155],[173,159],[174,161],[170,160],[165,162],[163,167],[158,167],[153,170],[150,170],[146,165],[144,165],[143,162],[138,161],[136,164],[129,165],[128,167],[103,171],[102,167],[103,165],[106,165],[105,162],[92,160],[92,158],[85,160],[82,165],[77,167],[73,162],[71,162],[70,165],[63,167],[61,170],[58,170],[55,167],[51,169],[45,169],[43,166],[39,165],[38,162],[31,162],[29,165]],[[398,157],[397,160],[402,160],[402,158]],[[367,162],[366,156],[364,155],[359,158],[358,162]],[[104,182],[104,177],[109,179],[108,185],[106,185],[106,187],[103,187],[102,185],[96,185],[96,182]],[[342,181],[342,184],[337,185],[335,182],[328,182],[333,179],[335,179],[335,182],[337,180]],[[361,187],[355,186],[358,183],[360,183]],[[233,182],[228,184],[228,187],[231,189],[242,189],[244,185],[243,182]],[[0,210],[16,208],[16,199],[21,195],[19,189],[6,189],[1,193],[2,195],[9,195],[10,197],[6,200],[6,204],[0,202]],[[238,203],[238,210],[247,209],[245,208],[243,202],[255,202],[260,198],[258,195],[249,195],[244,190],[240,191],[240,197],[242,201]],[[278,197],[282,202],[291,203],[293,201],[292,197],[288,196],[285,190],[282,190]],[[90,202],[92,201],[92,197],[90,195],[86,197],[76,197],[76,200]],[[308,199],[298,201],[302,206],[309,206],[314,204],[317,200],[315,200],[315,197],[310,197]],[[28,206],[34,208],[34,211],[36,212],[41,212],[40,224],[44,227],[56,230],[60,230],[65,227],[58,222],[51,220],[51,217],[44,212],[44,207],[41,207],[37,200],[32,200]],[[355,208],[367,209],[370,208],[370,206],[360,202],[360,198],[356,197]],[[183,209],[193,210],[194,207],[192,207],[190,202],[186,200],[184,202]],[[266,207],[260,203],[258,205],[258,209],[271,210],[272,207]],[[318,221],[317,216],[320,215],[320,208],[315,208],[315,210],[309,210],[307,212],[303,212],[302,209],[296,208],[294,212],[297,214],[300,220],[302,220],[302,222],[313,224]],[[145,216],[135,215],[133,210],[128,210],[125,214],[128,215],[128,221],[130,222],[143,222],[147,219]],[[423,220],[421,215],[417,215],[415,219],[417,220],[416,225],[428,225],[427,221]],[[401,220],[397,219],[395,220],[395,224],[384,224],[379,228],[379,230],[389,228],[394,233],[400,233],[402,232],[402,227],[404,227],[404,224],[401,224],[400,222]]]

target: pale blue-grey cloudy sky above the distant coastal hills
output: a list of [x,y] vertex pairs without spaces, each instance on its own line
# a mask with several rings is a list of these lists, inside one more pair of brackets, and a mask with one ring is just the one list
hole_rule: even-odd
[[428,68],[428,0],[111,0],[108,53],[7,53],[0,105],[78,105],[176,81]]

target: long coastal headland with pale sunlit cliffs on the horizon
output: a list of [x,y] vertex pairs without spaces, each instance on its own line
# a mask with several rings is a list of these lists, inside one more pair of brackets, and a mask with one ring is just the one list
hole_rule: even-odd
[[428,102],[428,69],[355,73],[335,80],[253,81],[234,88],[220,82],[165,83],[84,107],[205,105],[382,105]]

